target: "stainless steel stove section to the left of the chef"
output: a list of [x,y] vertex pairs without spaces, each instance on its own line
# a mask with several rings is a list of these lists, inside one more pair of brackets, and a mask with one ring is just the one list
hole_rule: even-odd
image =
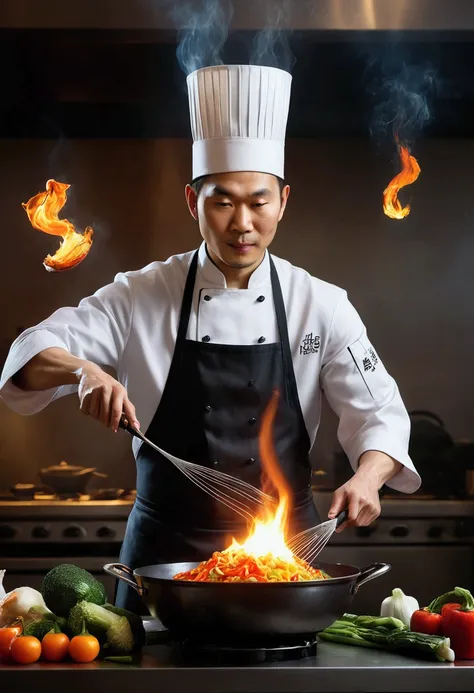
[[119,557],[134,499],[135,492],[120,489],[71,497],[35,493],[29,499],[1,494],[0,569],[6,570],[5,589],[38,589],[53,566],[74,563],[98,577],[113,599],[115,581],[102,566]]

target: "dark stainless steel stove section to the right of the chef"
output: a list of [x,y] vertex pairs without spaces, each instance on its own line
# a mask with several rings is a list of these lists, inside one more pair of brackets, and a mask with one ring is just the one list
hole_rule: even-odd
[[[331,494],[317,494],[324,517]],[[360,589],[357,613],[378,613],[394,587],[426,606],[455,586],[474,589],[474,502],[402,496],[382,499],[382,514],[370,527],[335,534],[321,560],[365,567],[390,563],[392,570]]]

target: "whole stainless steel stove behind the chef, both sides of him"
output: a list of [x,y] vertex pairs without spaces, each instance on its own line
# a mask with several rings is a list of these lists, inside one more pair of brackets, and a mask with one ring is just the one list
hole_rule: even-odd
[[[315,494],[321,517],[331,497]],[[102,566],[119,557],[134,499],[133,491],[120,489],[70,498],[37,493],[28,500],[0,494],[0,569],[7,570],[6,589],[39,587],[54,565],[75,563],[100,577],[112,599],[114,580]],[[374,613],[394,587],[422,603],[456,585],[474,589],[474,501],[384,498],[382,515],[371,527],[334,535],[321,559],[359,567],[392,565],[386,576],[357,594],[354,610],[359,613]]]

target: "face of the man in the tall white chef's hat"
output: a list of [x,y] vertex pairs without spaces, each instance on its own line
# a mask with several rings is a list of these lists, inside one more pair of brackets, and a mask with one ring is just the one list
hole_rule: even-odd
[[275,176],[245,171],[206,176],[198,194],[186,186],[186,199],[212,259],[240,270],[262,261],[289,192]]

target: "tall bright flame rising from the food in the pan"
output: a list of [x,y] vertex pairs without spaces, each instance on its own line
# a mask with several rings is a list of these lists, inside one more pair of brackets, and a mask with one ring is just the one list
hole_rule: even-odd
[[[291,490],[278,462],[273,446],[272,428],[278,408],[279,394],[275,390],[262,420],[259,436],[260,457],[264,472],[264,485],[273,486],[278,493],[278,506],[264,508],[260,517],[255,518],[252,530],[243,544],[235,539],[229,551],[242,549],[249,556],[259,557],[271,554],[275,558],[293,562],[293,552],[285,541],[288,515],[291,508]],[[267,490],[263,489],[265,492]]]

